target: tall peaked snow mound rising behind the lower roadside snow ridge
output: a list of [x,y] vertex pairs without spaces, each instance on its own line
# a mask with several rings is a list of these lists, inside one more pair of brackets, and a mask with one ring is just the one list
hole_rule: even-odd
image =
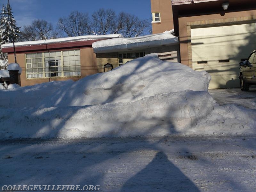
[[45,98],[37,107],[124,103],[170,92],[207,91],[210,79],[205,71],[161,61],[152,53],[107,73],[87,76]]

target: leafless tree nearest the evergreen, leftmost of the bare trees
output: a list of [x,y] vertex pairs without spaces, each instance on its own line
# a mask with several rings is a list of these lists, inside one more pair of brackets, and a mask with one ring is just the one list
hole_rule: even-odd
[[24,26],[21,31],[23,41],[35,41],[49,38],[55,38],[57,33],[54,31],[51,23],[45,20],[36,19],[31,25]]

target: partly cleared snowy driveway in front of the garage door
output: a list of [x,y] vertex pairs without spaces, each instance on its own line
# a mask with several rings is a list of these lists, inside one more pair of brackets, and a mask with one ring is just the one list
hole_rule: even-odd
[[256,86],[250,87],[248,92],[234,89],[209,89],[212,97],[220,105],[236,104],[245,108],[256,109]]

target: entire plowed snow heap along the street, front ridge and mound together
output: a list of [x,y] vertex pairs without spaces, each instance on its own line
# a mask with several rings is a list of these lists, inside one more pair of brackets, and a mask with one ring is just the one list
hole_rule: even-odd
[[2,90],[0,138],[255,134],[256,111],[216,104],[210,79],[153,53],[77,82]]

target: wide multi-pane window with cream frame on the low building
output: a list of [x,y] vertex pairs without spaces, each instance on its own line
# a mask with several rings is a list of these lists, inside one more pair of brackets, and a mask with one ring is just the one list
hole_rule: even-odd
[[26,54],[27,78],[81,76],[80,50]]

